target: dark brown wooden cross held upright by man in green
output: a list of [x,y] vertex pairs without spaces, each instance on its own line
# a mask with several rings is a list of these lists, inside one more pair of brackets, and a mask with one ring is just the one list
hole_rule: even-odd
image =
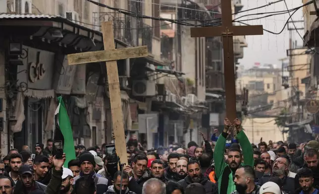
[[233,121],[237,117],[233,36],[263,35],[263,26],[233,26],[231,0],[221,0],[221,15],[221,26],[191,28],[191,37],[222,36],[226,115]]

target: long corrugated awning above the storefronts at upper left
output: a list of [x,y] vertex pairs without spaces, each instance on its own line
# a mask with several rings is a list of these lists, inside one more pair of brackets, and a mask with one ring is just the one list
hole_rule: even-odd
[[[66,18],[47,14],[7,14],[0,13],[0,33],[15,34],[21,33],[28,37],[28,42],[36,44],[38,41],[58,44],[61,50],[70,49],[68,52],[75,53],[78,49],[83,51],[101,50],[103,46],[103,35],[100,31],[92,30],[82,25],[76,24]],[[17,30],[17,27],[19,29]],[[52,30],[59,30],[62,38],[53,36]],[[116,48],[127,47],[124,42],[114,39]],[[48,47],[46,47],[48,48]],[[50,47],[48,48],[50,49]]]

